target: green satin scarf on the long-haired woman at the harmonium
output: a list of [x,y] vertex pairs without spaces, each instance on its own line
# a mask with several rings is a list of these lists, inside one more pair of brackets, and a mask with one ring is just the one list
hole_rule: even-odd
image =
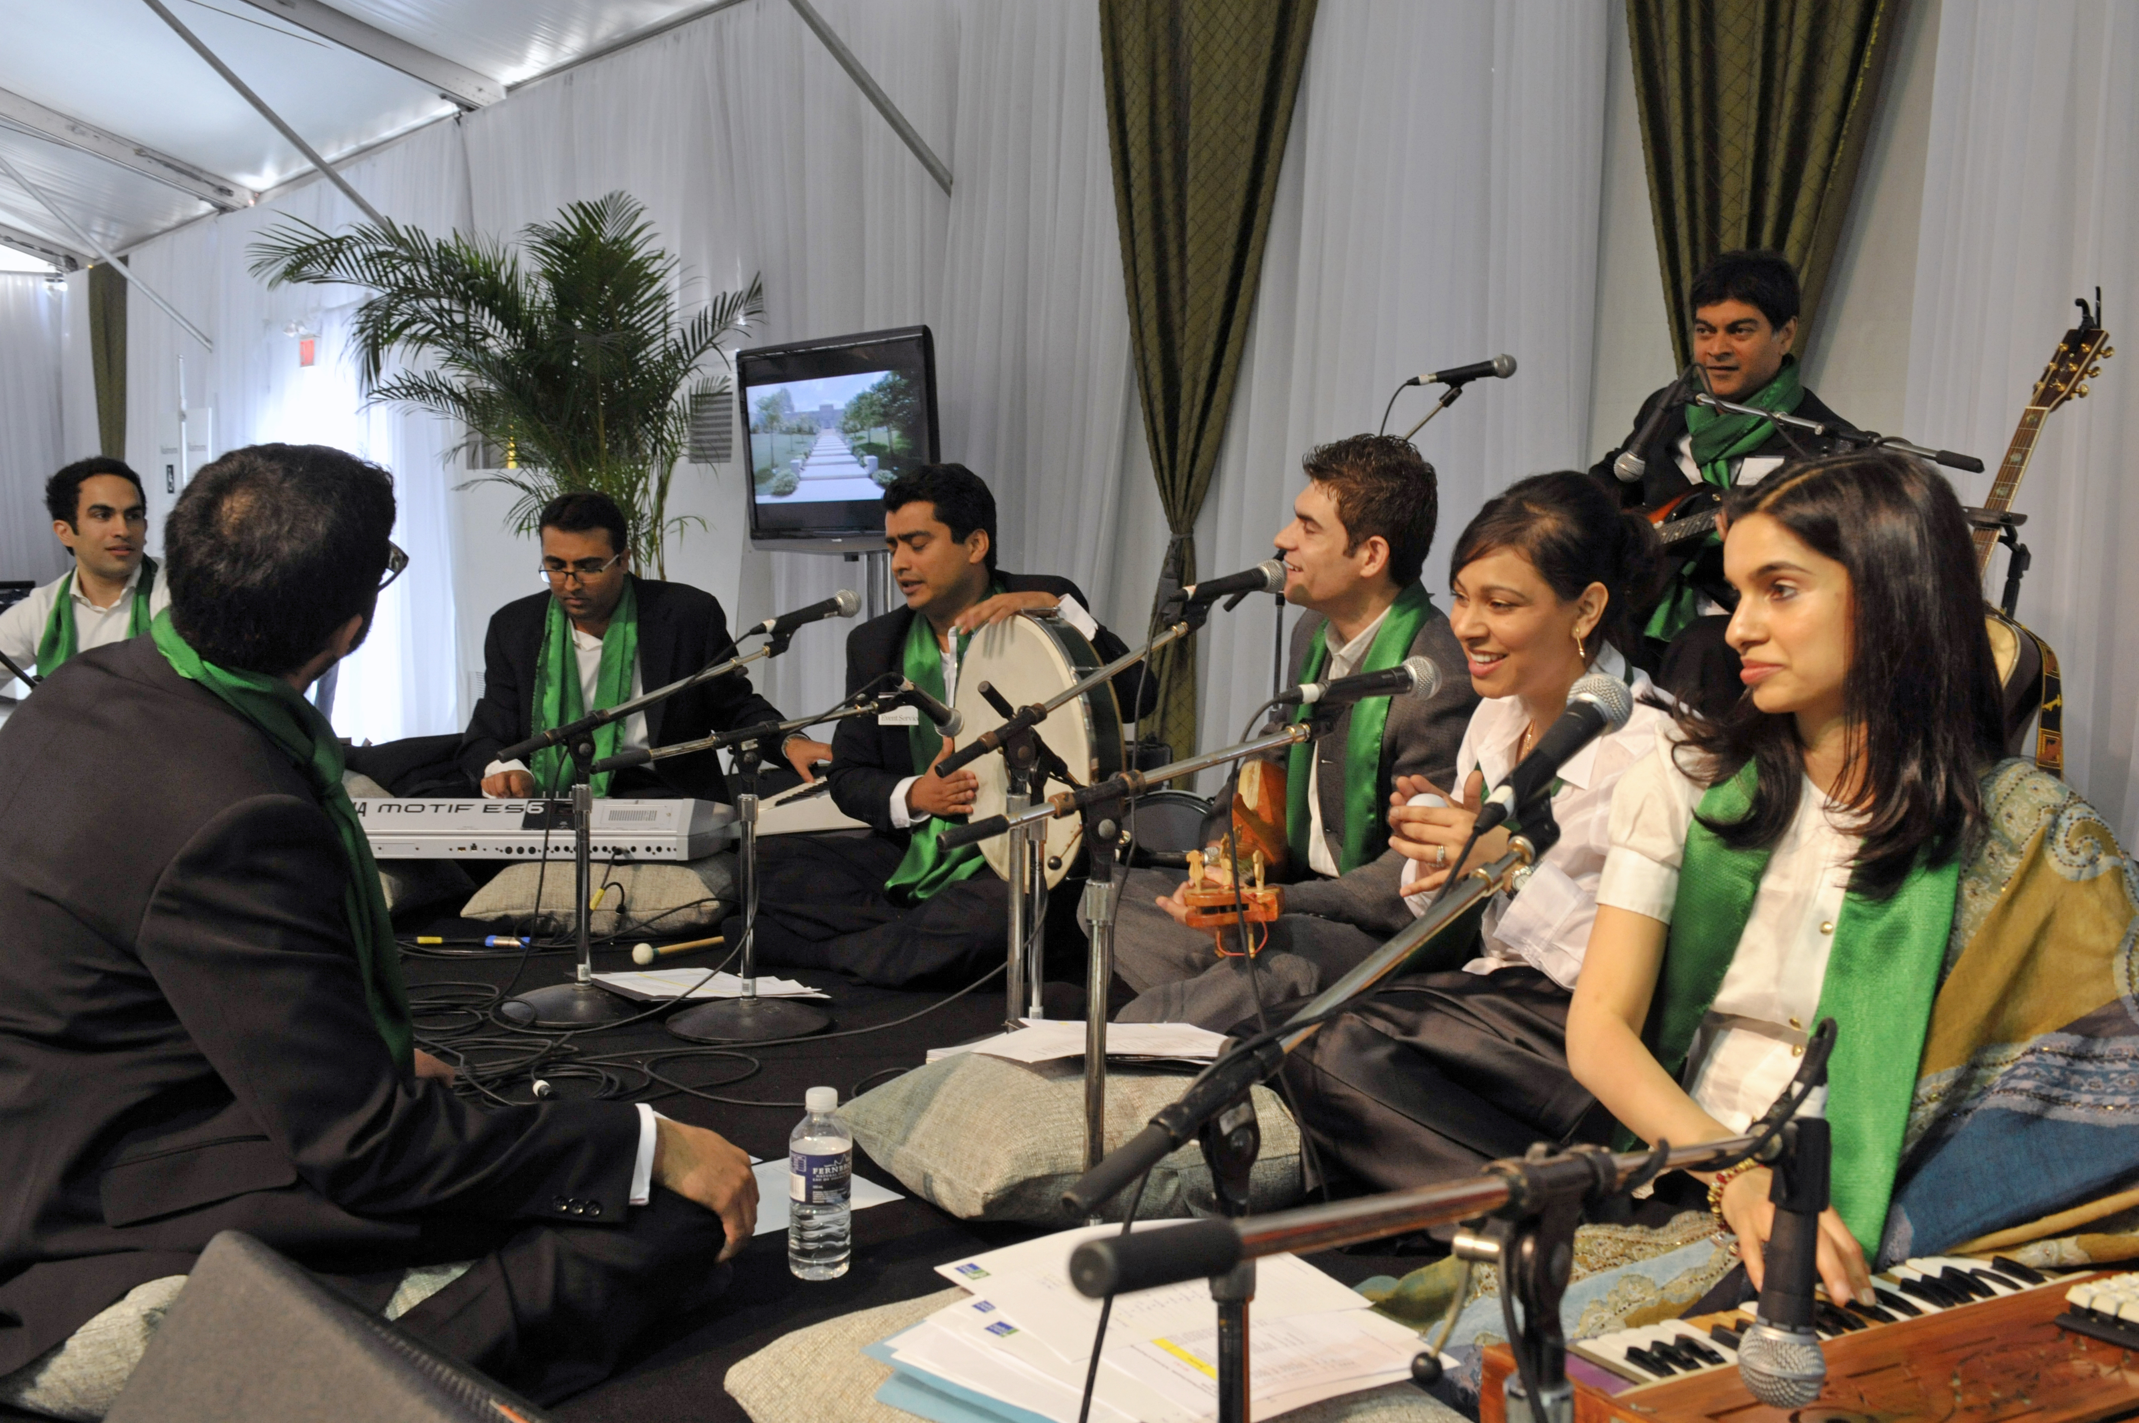
[[[1741,820],[1752,809],[1754,779],[1748,762],[1728,781],[1711,785],[1701,798],[1701,815],[1718,824]],[[1656,1059],[1673,1076],[1683,1072],[1694,1034],[1730,971],[1767,862],[1767,850],[1730,850],[1698,820],[1686,837],[1679,897],[1671,909],[1671,939],[1647,1031]],[[1820,1008],[1812,1023],[1835,1021],[1835,1053],[1827,1064],[1833,1205],[1867,1258],[1887,1226],[1959,877],[1955,858],[1919,864],[1891,899],[1865,899],[1850,890],[1820,980]]]

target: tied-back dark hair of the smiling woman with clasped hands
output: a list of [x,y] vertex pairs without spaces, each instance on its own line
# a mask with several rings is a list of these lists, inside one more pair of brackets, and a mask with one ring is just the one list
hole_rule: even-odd
[[1664,582],[1664,550],[1649,520],[1624,511],[1617,494],[1572,469],[1517,479],[1463,526],[1448,582],[1497,548],[1529,559],[1561,603],[1604,584],[1604,616],[1589,636],[1602,633],[1626,657],[1636,653],[1641,616]]

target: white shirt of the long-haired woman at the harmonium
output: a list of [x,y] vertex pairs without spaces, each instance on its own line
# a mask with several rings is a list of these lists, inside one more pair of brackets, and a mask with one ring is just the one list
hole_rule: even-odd
[[[1677,764],[1675,745],[1673,730],[1660,728],[1656,755],[1619,781],[1611,856],[1598,884],[1600,905],[1664,924],[1679,894],[1686,835],[1707,794]],[[1842,809],[1807,779],[1799,787],[1797,815],[1760,875],[1715,1004],[1686,1057],[1688,1096],[1733,1132],[1765,1113],[1797,1074],[1859,843]],[[1822,1102],[1818,1091],[1805,1108],[1818,1113]]]

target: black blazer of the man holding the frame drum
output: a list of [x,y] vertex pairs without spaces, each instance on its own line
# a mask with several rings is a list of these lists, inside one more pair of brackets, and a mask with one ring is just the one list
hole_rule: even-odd
[[[1084,591],[1067,578],[1046,573],[997,573],[997,578],[1010,593],[1074,597],[1091,612]],[[892,608],[881,618],[871,618],[847,633],[847,695],[886,672],[901,670],[913,616],[911,608]],[[1099,653],[1099,661],[1114,661],[1129,651],[1129,644],[1106,627],[1099,629],[1091,646]],[[1119,674],[1112,685],[1123,721],[1144,717],[1159,704],[1157,678],[1142,676],[1142,665]],[[832,781],[834,805],[901,845],[907,843],[907,832],[892,828],[892,790],[922,770],[926,766],[913,764],[913,743],[903,725],[879,725],[871,717],[849,717],[832,732],[832,770],[826,779]]]

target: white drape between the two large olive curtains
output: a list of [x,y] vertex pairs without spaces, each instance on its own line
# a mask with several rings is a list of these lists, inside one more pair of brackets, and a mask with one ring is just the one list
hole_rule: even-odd
[[[1418,434],[1440,473],[1425,582],[1444,610],[1448,548],[1484,496],[1585,462],[1604,19],[1587,0],[1322,0],[1249,351],[1196,526],[1204,573],[1268,559],[1305,486],[1301,454],[1373,430],[1420,370],[1502,351],[1519,362]],[[1437,396],[1405,392],[1390,432]],[[1271,695],[1275,616],[1273,599],[1253,599],[1204,633],[1206,745],[1232,740]]]

